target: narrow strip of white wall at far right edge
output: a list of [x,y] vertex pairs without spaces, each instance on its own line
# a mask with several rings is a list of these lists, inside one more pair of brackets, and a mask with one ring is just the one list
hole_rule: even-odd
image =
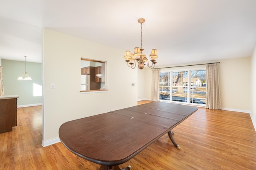
[[251,57],[251,115],[254,122],[254,128],[256,129],[256,46]]

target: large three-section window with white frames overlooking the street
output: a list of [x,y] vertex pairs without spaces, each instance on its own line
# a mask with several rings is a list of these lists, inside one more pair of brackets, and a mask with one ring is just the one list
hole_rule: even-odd
[[205,106],[205,81],[205,69],[160,72],[159,100]]

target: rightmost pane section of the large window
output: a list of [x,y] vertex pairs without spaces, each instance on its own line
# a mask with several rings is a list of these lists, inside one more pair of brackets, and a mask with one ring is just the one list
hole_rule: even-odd
[[205,104],[206,70],[191,71],[190,80],[190,103]]

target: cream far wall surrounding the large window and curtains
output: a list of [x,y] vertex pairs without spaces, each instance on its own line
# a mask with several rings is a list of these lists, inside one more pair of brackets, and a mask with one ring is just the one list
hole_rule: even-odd
[[[250,57],[238,59],[210,61],[220,62],[220,91],[222,108],[233,111],[250,112]],[[193,63],[202,64],[202,63]],[[189,65],[189,64],[188,64]],[[188,67],[162,68],[161,70],[181,70]],[[190,66],[189,68],[205,68],[205,65]],[[145,77],[151,81],[151,70],[145,72]],[[151,82],[145,82],[145,96],[142,98],[150,98]],[[143,90],[140,86],[139,90]]]

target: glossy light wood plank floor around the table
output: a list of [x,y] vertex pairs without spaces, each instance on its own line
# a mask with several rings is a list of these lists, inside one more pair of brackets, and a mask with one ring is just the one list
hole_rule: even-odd
[[[166,134],[120,167],[256,169],[256,132],[248,113],[199,108],[172,131],[180,150]],[[0,170],[97,170],[100,167],[72,154],[62,143],[44,148],[41,143],[42,107],[18,108],[18,126],[12,132],[0,133]]]

